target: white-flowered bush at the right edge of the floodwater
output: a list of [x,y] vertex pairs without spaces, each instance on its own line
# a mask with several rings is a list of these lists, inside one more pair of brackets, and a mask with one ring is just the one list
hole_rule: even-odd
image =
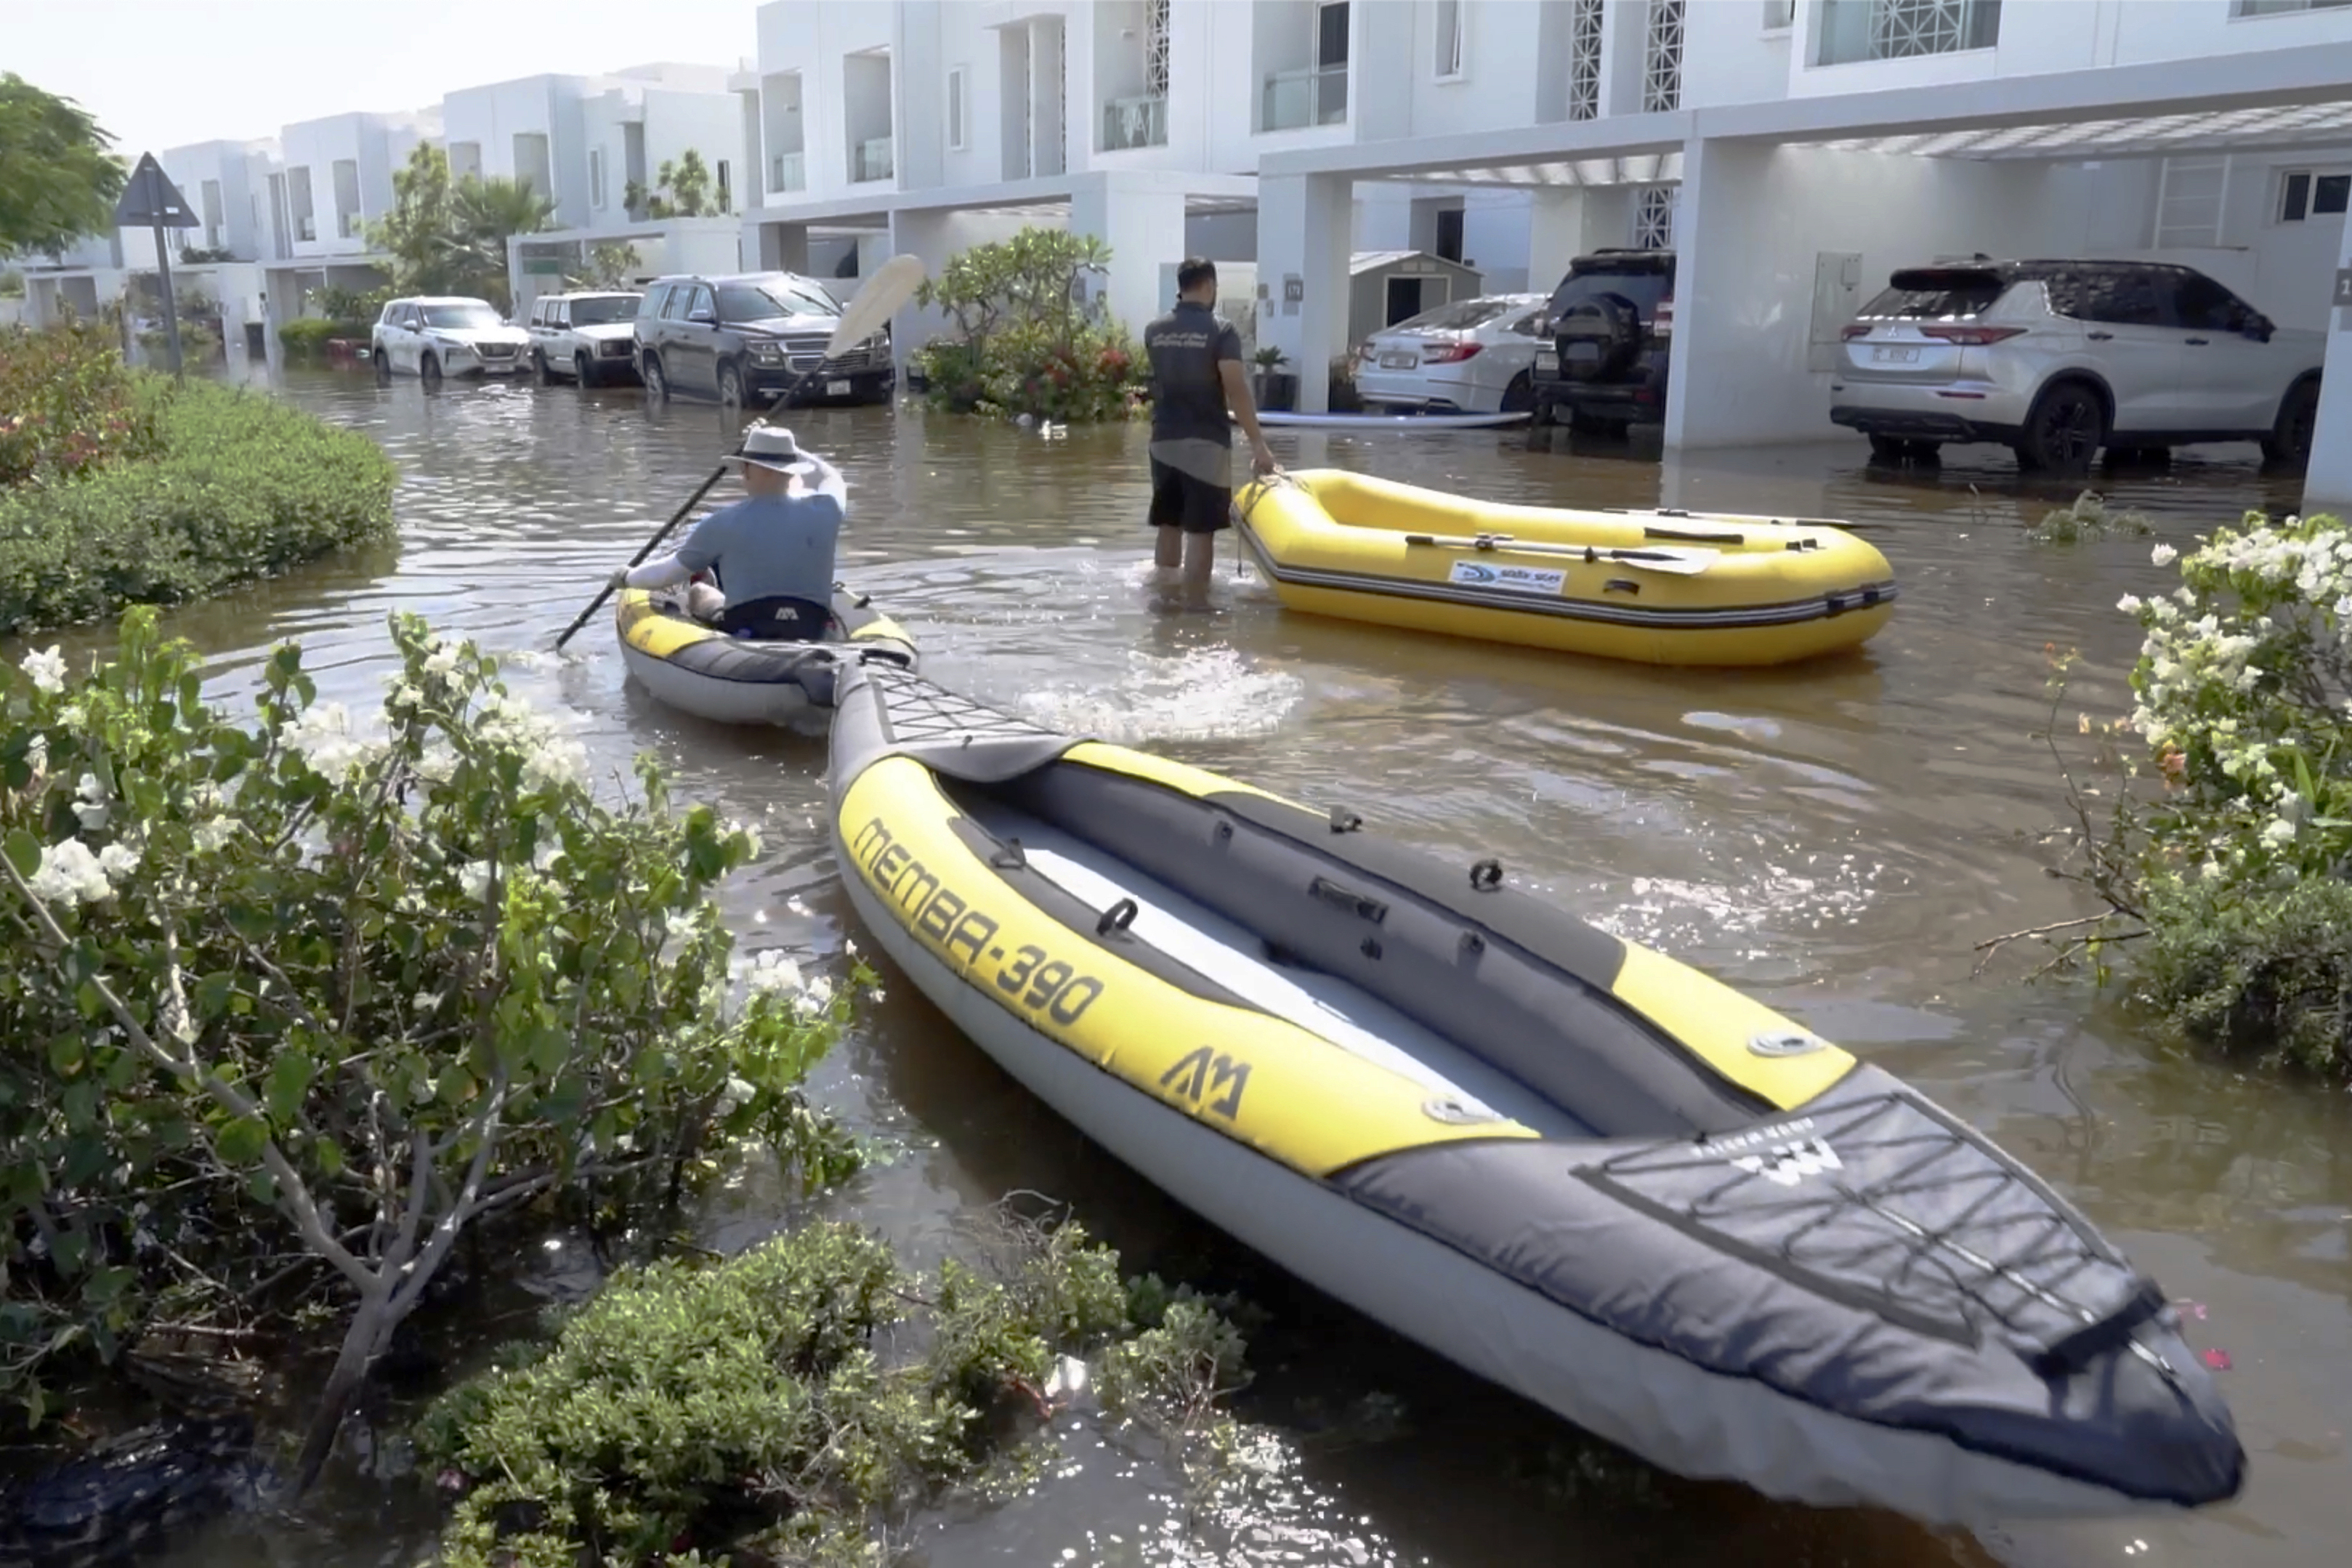
[[2119,602],[2143,644],[2110,726],[2161,790],[2117,790],[2096,837],[2084,811],[2086,882],[2138,922],[2140,990],[2183,1030],[2352,1074],[2352,531],[2249,512],[2154,548],[2176,559],[2180,588]]

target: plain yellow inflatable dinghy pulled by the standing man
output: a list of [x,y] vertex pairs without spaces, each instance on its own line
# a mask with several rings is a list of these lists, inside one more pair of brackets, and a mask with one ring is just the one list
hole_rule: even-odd
[[1835,522],[1498,505],[1310,468],[1235,496],[1289,609],[1656,665],[1778,665],[1867,642],[1896,576]]

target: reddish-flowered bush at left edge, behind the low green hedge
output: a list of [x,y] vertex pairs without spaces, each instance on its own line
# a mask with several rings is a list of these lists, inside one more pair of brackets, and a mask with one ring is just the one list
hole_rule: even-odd
[[136,374],[96,322],[0,329],[0,496],[158,451],[155,404],[136,393]]

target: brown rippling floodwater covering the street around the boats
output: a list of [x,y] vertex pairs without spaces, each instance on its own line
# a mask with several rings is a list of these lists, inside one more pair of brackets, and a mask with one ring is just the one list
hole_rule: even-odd
[[[609,621],[555,635],[708,473],[734,421],[635,393],[374,388],[296,374],[287,397],[383,442],[402,470],[400,543],[191,607],[169,628],[223,691],[301,639],[322,696],[374,703],[386,611],[426,614],[529,656],[517,689],[576,715],[600,771],[652,750],[677,795],[757,818],[762,863],[729,891],[753,945],[840,971],[854,917],[818,827],[823,743],[739,733],[626,682]],[[844,576],[920,635],[927,672],[1037,719],[1350,804],[1465,865],[1494,853],[1590,919],[1698,964],[1891,1067],[1987,1128],[2194,1302],[2253,1458],[2246,1495],[2194,1519],[1929,1535],[1867,1512],[1766,1502],[1616,1460],[1176,1211],[1002,1077],[920,994],[889,983],[826,1065],[828,1105],[901,1152],[844,1213],[917,1258],[1009,1190],[1068,1201],[1131,1267],[1242,1288],[1270,1321],[1240,1403],[1242,1481],[1202,1505],[1150,1448],[1068,1434],[1035,1495],[922,1521],[931,1563],[1915,1563],[2100,1561],[2314,1568],[2343,1561],[2352,1495],[2345,1095],[2234,1072],[2161,1044],[2114,997],[1976,978],[1973,945],[2084,912],[2044,877],[2058,825],[2046,646],[2082,646],[2058,722],[2124,708],[2136,651],[2117,595],[2161,585],[2150,541],[2072,548],[2020,522],[2072,498],[2006,454],[1940,473],[1865,470],[1858,444],[1710,456],[1534,454],[1517,437],[1275,433],[1291,468],[1345,465],[1505,501],[1804,512],[1872,524],[1903,599],[1860,656],[1780,672],[1675,672],[1522,654],[1284,614],[1221,562],[1214,614],[1145,588],[1141,430],[1061,437],[915,409],[795,411],[851,484]],[[2288,510],[2237,449],[2096,480],[2159,536]],[[1230,538],[1230,536],[1228,536]],[[47,642],[47,639],[45,639]],[[73,642],[89,646],[99,635]],[[14,654],[12,654],[14,656]],[[739,1192],[720,1246],[781,1222]],[[576,1276],[550,1253],[536,1288]],[[536,1267],[536,1265],[534,1265]],[[367,1443],[367,1448],[376,1448]],[[369,1455],[393,1460],[397,1443]],[[412,1486],[346,1455],[303,1521],[238,1521],[169,1561],[407,1563],[430,1535]]]

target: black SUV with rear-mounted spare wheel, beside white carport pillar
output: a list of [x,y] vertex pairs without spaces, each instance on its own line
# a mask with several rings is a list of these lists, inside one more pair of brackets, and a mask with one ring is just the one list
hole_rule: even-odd
[[1536,423],[1623,430],[1665,418],[1675,252],[1578,256],[1545,315],[1552,346],[1536,353]]

